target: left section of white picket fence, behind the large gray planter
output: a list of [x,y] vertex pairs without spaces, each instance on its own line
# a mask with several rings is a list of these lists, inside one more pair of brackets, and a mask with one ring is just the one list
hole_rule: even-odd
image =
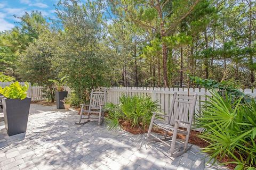
[[[5,86],[9,86],[11,83],[12,82],[0,82],[0,87],[4,88]],[[20,82],[20,84],[23,86],[24,82]],[[42,89],[42,86],[31,86],[31,83],[29,83],[27,96],[31,97],[31,101],[44,100]]]

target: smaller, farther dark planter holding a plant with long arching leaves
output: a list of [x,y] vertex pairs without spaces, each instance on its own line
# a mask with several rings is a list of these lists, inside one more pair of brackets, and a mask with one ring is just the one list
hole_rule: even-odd
[[55,84],[57,109],[65,108],[64,104],[63,104],[63,100],[65,97],[68,96],[68,92],[64,91],[65,90],[64,86],[66,83],[65,79],[67,79],[67,78],[68,78],[68,76],[65,75],[64,77],[62,77],[60,79],[60,81],[49,79],[49,81],[52,81]]

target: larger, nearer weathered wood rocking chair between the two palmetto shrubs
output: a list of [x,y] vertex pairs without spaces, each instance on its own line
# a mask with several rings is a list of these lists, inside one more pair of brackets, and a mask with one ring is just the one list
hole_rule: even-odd
[[[151,135],[155,139],[169,146],[170,154],[173,157],[184,154],[192,146],[188,146],[188,140],[195,112],[196,99],[197,94],[191,96],[178,96],[177,92],[175,92],[171,104],[170,114],[164,115],[163,113],[155,112],[153,113],[153,116],[151,118],[147,137],[149,138]],[[167,117],[167,121],[156,119],[157,115],[158,117]],[[158,138],[156,135],[151,133],[153,125],[164,130],[164,138]],[[172,132],[173,135],[171,137],[168,137],[168,132]],[[175,150],[175,143],[178,133],[186,135],[186,138],[185,142],[183,143],[183,150],[179,149],[177,151]],[[171,145],[166,142],[167,140],[172,140]]]

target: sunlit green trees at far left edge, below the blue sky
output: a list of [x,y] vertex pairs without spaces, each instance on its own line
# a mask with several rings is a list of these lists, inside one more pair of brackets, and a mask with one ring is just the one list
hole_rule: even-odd
[[[45,31],[47,23],[41,12],[37,11],[25,12],[22,16],[14,15],[14,17],[19,20],[16,22],[17,26],[0,33],[0,72],[17,77],[18,70],[23,73],[20,70],[20,62],[18,62],[21,54],[25,52],[29,43]],[[27,54],[29,55],[29,52]],[[37,62],[37,60],[34,60],[34,62]],[[27,77],[22,78],[26,79]]]

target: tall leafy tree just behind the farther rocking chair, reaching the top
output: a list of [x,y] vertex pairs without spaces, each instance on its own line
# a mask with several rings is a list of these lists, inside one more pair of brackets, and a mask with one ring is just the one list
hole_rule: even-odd
[[109,84],[109,49],[100,43],[101,5],[98,1],[60,1],[57,15],[63,32],[52,68],[60,70],[60,75],[69,75],[67,85],[85,102],[91,89]]

